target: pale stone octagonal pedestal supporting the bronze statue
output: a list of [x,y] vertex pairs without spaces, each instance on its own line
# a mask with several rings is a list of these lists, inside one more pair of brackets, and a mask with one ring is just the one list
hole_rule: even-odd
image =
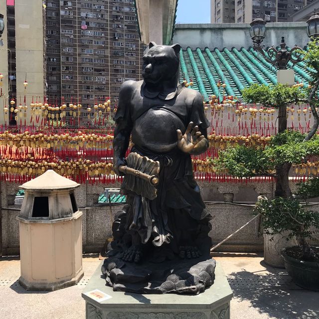
[[98,267],[82,293],[86,319],[230,319],[233,294],[218,262],[215,276],[214,284],[196,296],[139,295],[114,292]]

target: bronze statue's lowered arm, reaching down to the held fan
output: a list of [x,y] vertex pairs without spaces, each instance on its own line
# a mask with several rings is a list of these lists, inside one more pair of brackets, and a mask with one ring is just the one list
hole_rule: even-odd
[[121,165],[126,165],[125,154],[129,148],[130,136],[132,131],[132,117],[131,117],[131,97],[133,91],[133,81],[127,81],[122,84],[118,109],[114,120],[116,127],[114,130],[113,139],[113,164],[114,170],[118,175],[124,175],[119,172],[118,168]]

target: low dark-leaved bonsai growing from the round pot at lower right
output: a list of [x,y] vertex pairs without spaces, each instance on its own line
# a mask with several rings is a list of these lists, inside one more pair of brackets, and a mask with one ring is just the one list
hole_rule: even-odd
[[[288,232],[288,239],[296,236],[300,250],[292,249],[290,254],[293,256],[291,257],[303,261],[319,261],[319,249],[313,249],[307,241],[319,231],[318,212],[307,210],[297,198],[283,197],[277,197],[273,200],[259,200],[254,212],[262,215],[266,234],[275,235]],[[312,230],[311,227],[317,228],[317,230]],[[272,239],[271,237],[270,240]]]

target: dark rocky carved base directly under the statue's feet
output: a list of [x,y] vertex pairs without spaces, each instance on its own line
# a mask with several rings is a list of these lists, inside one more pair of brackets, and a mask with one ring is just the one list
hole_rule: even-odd
[[104,260],[101,270],[114,291],[198,295],[214,283],[215,267],[214,259],[203,257],[175,258],[158,264],[135,264],[111,257]]

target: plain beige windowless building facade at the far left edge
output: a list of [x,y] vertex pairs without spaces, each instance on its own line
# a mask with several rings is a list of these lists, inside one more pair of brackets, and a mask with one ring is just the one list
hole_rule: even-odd
[[[43,12],[42,1],[0,1],[0,13],[4,16],[3,45],[0,46],[0,107],[8,109],[0,112],[0,124],[29,124],[28,106],[32,99],[44,99]],[[11,101],[14,104],[11,105]],[[19,105],[23,108],[20,107],[17,114],[11,112]]]

